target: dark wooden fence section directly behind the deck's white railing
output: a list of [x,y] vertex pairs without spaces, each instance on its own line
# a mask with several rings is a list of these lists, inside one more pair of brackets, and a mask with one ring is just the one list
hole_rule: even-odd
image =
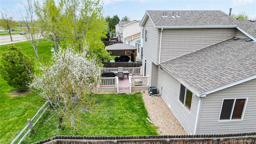
[[141,62],[102,62],[105,68],[117,68],[117,67],[140,67]]

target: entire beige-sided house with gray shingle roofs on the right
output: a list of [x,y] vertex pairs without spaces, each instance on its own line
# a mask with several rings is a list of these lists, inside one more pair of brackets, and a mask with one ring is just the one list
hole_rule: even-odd
[[187,134],[256,132],[256,22],[221,11],[146,11],[144,75]]

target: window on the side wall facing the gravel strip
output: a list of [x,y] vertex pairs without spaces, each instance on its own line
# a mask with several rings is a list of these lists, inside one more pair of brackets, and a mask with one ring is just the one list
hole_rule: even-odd
[[179,100],[187,108],[188,110],[191,109],[191,103],[192,103],[192,96],[193,93],[190,92],[185,86],[180,84],[180,97]]

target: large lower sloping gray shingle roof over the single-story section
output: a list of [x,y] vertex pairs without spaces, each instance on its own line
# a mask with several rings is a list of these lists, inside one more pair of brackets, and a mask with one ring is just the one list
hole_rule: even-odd
[[256,42],[226,40],[160,64],[199,94],[256,75]]

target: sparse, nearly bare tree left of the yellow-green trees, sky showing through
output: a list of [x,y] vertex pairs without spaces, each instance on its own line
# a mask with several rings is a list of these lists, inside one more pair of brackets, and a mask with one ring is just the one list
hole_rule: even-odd
[[43,40],[44,22],[38,19],[36,15],[35,1],[25,0],[23,1],[23,6],[26,8],[26,15],[24,16],[21,12],[20,13],[22,15],[22,25],[24,25],[26,31],[25,37],[31,42],[36,54],[36,59],[38,59],[37,48]]

